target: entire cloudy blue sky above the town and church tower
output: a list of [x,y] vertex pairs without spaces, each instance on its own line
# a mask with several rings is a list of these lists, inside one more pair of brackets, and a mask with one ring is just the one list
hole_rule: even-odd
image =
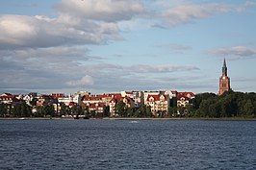
[[256,1],[9,0],[0,92],[256,91]]

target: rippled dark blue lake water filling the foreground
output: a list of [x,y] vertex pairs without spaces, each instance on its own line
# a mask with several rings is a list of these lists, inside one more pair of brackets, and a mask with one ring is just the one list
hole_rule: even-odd
[[256,169],[256,121],[0,120],[0,169]]

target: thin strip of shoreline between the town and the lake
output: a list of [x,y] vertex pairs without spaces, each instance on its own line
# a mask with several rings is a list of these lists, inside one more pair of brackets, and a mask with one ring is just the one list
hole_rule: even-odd
[[[256,121],[250,117],[103,117],[90,120],[227,120],[227,121]],[[75,120],[62,117],[0,117],[0,120]],[[83,119],[81,119],[83,120]]]

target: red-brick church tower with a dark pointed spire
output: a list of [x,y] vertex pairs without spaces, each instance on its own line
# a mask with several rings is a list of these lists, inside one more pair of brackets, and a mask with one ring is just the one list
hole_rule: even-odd
[[230,90],[230,79],[227,77],[227,65],[224,59],[222,66],[222,76],[219,78],[219,91],[218,95],[223,94],[225,91]]

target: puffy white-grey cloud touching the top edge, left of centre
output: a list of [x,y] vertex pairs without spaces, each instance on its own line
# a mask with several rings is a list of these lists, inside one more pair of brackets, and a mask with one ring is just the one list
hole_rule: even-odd
[[63,0],[56,9],[62,13],[91,20],[116,22],[130,20],[146,12],[135,0]]

